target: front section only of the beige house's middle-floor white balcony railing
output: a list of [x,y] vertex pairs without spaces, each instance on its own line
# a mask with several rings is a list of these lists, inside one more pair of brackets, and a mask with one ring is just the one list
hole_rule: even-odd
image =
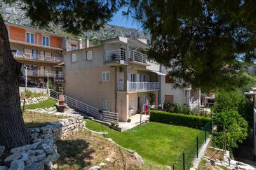
[[159,82],[128,82],[128,91],[159,90]]

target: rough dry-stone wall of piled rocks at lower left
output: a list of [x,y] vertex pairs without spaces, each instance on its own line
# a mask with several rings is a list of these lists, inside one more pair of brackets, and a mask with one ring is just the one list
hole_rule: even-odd
[[49,122],[43,127],[28,129],[32,143],[11,149],[11,155],[4,159],[5,165],[0,166],[0,170],[32,170],[44,169],[44,167],[56,169],[53,162],[58,160],[60,155],[54,141],[66,139],[69,134],[74,134],[84,127],[83,116],[69,114],[69,118]]

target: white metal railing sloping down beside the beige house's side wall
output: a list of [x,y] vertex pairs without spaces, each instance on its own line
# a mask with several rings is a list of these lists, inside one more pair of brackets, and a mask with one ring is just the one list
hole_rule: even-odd
[[[54,90],[50,89],[49,96],[52,97],[53,99],[59,99],[59,92],[56,92]],[[65,97],[65,103],[67,106],[70,106],[72,108],[76,108],[77,110],[87,113],[88,115],[93,116],[93,118],[97,120],[102,120],[105,122],[119,122],[119,114],[118,113],[113,113],[109,111],[102,111],[100,113],[100,109],[95,108],[93,106],[90,106],[88,104],[84,104],[82,101],[78,101],[72,97],[68,97],[64,95]]]

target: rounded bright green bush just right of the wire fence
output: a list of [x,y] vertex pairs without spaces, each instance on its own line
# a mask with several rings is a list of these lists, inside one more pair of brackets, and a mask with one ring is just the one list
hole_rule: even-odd
[[248,123],[237,111],[217,113],[213,121],[217,125],[217,132],[213,133],[213,142],[220,148],[223,148],[224,141],[227,150],[237,148],[238,143],[242,143],[248,135]]

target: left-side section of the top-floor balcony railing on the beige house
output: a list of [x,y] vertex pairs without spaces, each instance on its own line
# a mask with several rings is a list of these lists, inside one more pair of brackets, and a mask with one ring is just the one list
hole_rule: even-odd
[[126,61],[126,50],[119,49],[106,51],[106,62],[119,60]]

